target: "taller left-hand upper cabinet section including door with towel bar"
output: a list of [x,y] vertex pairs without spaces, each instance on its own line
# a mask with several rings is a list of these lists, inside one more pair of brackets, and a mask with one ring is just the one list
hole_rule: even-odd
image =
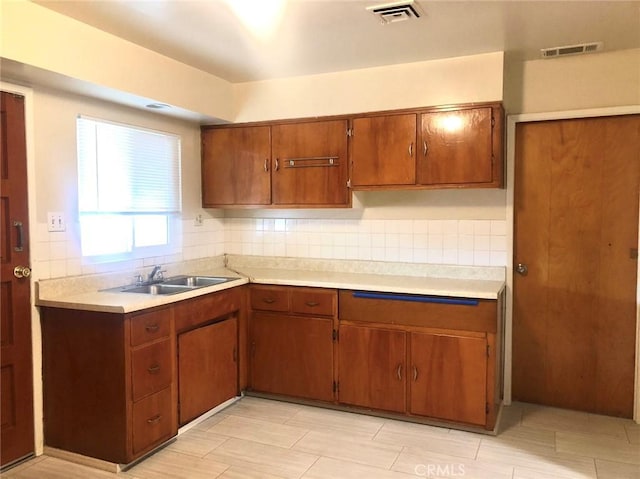
[[348,207],[347,120],[202,130],[204,207]]

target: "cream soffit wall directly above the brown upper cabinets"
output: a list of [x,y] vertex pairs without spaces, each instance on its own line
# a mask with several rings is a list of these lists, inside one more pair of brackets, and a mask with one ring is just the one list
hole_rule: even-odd
[[234,85],[238,122],[502,100],[503,53]]

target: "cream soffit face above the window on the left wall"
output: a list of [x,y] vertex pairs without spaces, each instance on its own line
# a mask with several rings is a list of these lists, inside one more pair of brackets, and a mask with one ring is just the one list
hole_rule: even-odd
[[35,3],[2,1],[1,10],[4,59],[143,100],[232,119],[231,84],[221,78]]

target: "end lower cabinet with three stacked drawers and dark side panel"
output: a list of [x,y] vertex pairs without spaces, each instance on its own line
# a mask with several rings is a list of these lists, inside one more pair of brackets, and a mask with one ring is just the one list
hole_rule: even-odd
[[171,308],[41,308],[45,445],[127,464],[178,431]]

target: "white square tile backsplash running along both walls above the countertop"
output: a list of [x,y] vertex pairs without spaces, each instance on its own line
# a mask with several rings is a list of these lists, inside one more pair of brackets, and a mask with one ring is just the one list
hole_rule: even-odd
[[35,279],[131,270],[222,255],[353,259],[460,266],[506,266],[502,220],[326,220],[209,218],[183,222],[182,254],[102,265],[83,264],[73,226],[32,231]]

